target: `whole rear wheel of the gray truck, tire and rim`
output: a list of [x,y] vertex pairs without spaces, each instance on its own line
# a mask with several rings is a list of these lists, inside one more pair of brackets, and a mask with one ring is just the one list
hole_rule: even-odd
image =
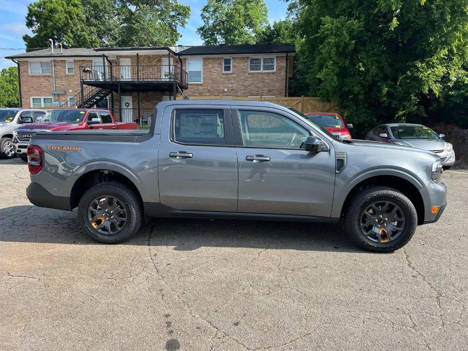
[[142,205],[135,192],[117,182],[90,188],[79,201],[78,218],[86,234],[105,244],[129,240],[141,227]]

